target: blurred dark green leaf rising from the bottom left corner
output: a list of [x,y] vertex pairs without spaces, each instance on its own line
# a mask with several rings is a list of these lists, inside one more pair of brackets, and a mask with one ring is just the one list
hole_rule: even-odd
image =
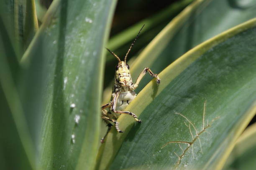
[[[0,18],[0,22],[1,22]],[[8,37],[0,24],[0,169],[35,169],[35,147],[15,85],[18,61]]]

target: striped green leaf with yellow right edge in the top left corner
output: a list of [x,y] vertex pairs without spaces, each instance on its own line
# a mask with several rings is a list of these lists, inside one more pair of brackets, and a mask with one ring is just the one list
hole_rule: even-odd
[[8,23],[8,35],[15,43],[17,57],[20,60],[33,36],[38,30],[34,0],[4,0],[1,15]]

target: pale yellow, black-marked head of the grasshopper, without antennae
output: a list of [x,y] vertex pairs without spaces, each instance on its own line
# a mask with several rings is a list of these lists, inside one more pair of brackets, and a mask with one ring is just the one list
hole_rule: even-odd
[[126,62],[118,62],[115,67],[115,81],[120,83],[122,86],[128,86],[131,84],[131,74],[129,70],[129,65]]

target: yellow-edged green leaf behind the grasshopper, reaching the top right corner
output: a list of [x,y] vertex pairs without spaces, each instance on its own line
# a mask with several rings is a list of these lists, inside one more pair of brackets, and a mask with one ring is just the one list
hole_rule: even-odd
[[[253,0],[196,0],[166,25],[130,65],[133,80],[144,67],[161,72],[201,42],[256,17],[255,11]],[[136,91],[150,80],[151,77],[146,76]],[[110,91],[104,92],[105,102],[109,100]]]

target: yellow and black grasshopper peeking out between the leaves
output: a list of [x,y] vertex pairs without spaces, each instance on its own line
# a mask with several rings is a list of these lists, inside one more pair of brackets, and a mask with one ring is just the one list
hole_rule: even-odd
[[[143,25],[142,28],[144,26],[145,25]],[[133,84],[133,81],[131,79],[129,65],[126,63],[126,58],[129,52],[131,51],[134,43],[136,42],[139,34],[141,33],[141,30],[138,32],[138,35],[136,36],[131,47],[126,53],[124,61],[121,61],[120,58],[117,55],[115,55],[114,52],[106,48],[112,55],[114,55],[117,58],[118,64],[115,66],[115,80],[114,80],[111,100],[109,103],[101,106],[101,109],[102,109],[101,117],[107,123],[107,126],[108,126],[106,135],[100,140],[101,143],[104,143],[104,139],[106,138],[110,129],[113,126],[111,122],[115,124],[115,129],[119,133],[123,133],[123,131],[119,129],[118,127],[119,123],[117,122],[117,119],[120,114],[131,115],[138,123],[141,123],[141,120],[138,119],[138,117],[133,112],[125,111],[125,107],[127,107],[131,103],[131,101],[133,101],[133,99],[136,97],[137,94],[134,90],[138,87],[139,82],[141,81],[143,76],[146,74],[146,72],[148,72],[152,77],[156,77],[156,82],[160,83],[160,79],[158,75],[154,74],[148,67],[145,67],[142,70],[135,84]],[[106,110],[106,108],[108,107],[110,107],[109,111]]]

